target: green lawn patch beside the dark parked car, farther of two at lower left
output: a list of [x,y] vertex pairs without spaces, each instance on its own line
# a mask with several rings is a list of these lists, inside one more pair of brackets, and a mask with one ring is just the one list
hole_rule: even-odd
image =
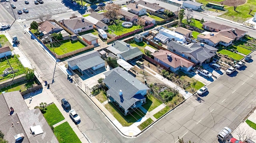
[[45,110],[44,118],[49,125],[54,125],[65,119],[55,104],[47,106],[46,109],[47,110]]

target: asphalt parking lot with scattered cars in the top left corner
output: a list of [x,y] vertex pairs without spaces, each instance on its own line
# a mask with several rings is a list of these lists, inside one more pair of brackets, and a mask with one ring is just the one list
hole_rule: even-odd
[[[43,4],[34,4],[34,0],[28,0],[29,4],[25,4],[24,0],[18,0],[14,2],[11,0],[10,2],[1,2],[0,4],[17,20],[18,19],[35,19],[40,15],[47,14],[60,14],[64,12],[68,12],[70,10],[78,10],[78,6],[75,6],[68,0],[43,0]],[[13,9],[10,4],[14,4],[16,6]],[[28,13],[23,12],[23,8],[27,8],[29,10]],[[13,12],[12,12],[13,10]],[[22,14],[18,14],[17,10],[21,10]]]

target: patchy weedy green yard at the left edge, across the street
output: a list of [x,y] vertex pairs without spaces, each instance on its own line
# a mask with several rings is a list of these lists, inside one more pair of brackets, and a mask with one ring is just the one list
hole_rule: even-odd
[[[8,57],[8,61],[9,61],[10,65],[12,66],[12,69],[11,69],[10,65],[8,64],[8,61],[6,60],[5,57],[0,60],[1,60],[0,61],[0,73],[1,74],[3,74],[4,71],[12,72],[12,69],[14,71],[15,76],[24,74],[26,72],[26,69],[20,63],[20,61],[16,55]],[[9,78],[13,78],[14,74],[9,73],[5,76],[0,76],[0,82],[4,81],[6,79],[9,79]]]

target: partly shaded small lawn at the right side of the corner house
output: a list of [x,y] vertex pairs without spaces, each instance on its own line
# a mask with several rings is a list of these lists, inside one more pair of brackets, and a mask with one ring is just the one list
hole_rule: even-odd
[[158,106],[160,106],[163,102],[155,98],[153,95],[148,94],[146,97],[146,103],[142,105],[148,112],[154,110]]

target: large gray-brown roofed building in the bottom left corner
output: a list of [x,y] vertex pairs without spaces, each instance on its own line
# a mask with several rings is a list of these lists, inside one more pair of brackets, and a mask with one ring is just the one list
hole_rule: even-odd
[[0,131],[9,143],[58,143],[40,109],[29,110],[19,91],[0,100]]

